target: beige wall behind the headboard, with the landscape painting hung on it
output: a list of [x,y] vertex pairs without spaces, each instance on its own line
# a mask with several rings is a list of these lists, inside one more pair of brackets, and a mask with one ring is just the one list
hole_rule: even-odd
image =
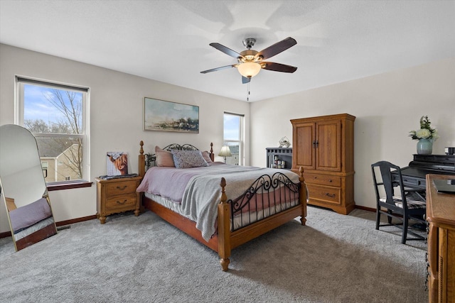
[[[90,88],[90,180],[106,175],[107,151],[129,153],[130,172],[137,172],[139,141],[148,150],[155,145],[191,143],[218,153],[223,144],[223,113],[245,114],[247,140],[250,104],[176,87],[122,72],[65,60],[0,44],[0,125],[14,123],[14,77],[33,77]],[[199,106],[199,133],[143,131],[143,98],[151,97]],[[247,146],[245,161],[249,164]],[[216,157],[215,160],[223,160]],[[50,192],[56,221],[96,213],[96,188]],[[0,205],[0,232],[9,231],[6,210]]]

